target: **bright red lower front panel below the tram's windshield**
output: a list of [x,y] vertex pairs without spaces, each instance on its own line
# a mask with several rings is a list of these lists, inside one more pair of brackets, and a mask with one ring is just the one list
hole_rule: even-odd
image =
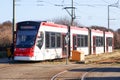
[[14,56],[29,56],[32,57],[34,55],[33,48],[15,48]]

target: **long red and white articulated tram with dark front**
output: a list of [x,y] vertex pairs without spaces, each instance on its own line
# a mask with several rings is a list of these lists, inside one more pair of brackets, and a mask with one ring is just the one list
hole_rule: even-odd
[[[14,60],[41,61],[65,58],[67,32],[67,26],[50,22],[17,23]],[[112,51],[112,45],[109,44],[113,39],[112,32],[103,33],[99,30],[71,27],[70,38],[71,51],[83,51],[85,55]]]

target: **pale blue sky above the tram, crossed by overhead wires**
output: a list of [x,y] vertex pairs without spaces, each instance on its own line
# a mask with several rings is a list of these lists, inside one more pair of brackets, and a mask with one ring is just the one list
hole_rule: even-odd
[[[76,19],[84,26],[108,26],[107,5],[118,0],[73,0]],[[0,23],[12,21],[12,0],[0,0]],[[63,5],[63,6],[56,6]],[[64,7],[71,6],[71,0],[16,0],[16,22],[25,20],[51,20],[70,18]],[[110,28],[120,28],[120,8],[110,7]]]

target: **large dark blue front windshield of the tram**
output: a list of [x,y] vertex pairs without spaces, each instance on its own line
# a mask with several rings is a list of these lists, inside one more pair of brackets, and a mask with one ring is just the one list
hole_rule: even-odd
[[19,30],[17,33],[16,47],[30,48],[34,45],[36,39],[36,30]]

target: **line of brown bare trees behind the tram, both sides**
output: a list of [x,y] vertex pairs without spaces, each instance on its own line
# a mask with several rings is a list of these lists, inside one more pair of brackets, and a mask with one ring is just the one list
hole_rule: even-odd
[[[57,24],[63,24],[69,26],[70,21],[67,19],[54,19],[52,20]],[[75,26],[79,27],[85,27],[78,24],[78,22],[74,22]],[[100,30],[108,30],[105,27],[101,26],[91,26],[90,28],[93,29],[100,29]],[[120,29],[117,29],[116,31],[110,29],[114,33],[114,48],[120,49]],[[6,50],[7,47],[9,47],[12,43],[12,22],[6,21],[3,23],[0,23],[0,51]]]

